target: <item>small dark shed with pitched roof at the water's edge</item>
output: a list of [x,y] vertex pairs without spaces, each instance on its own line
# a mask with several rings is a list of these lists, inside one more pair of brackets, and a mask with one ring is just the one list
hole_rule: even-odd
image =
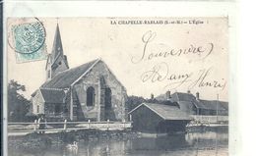
[[128,113],[133,130],[147,133],[173,133],[185,131],[192,120],[176,106],[157,103],[142,103]]

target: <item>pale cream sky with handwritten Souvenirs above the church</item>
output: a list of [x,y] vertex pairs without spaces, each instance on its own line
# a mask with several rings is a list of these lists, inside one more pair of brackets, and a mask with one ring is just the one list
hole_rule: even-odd
[[[100,58],[127,89],[149,98],[170,90],[228,100],[226,18],[39,18],[45,52],[51,53],[56,25],[70,68]],[[34,19],[9,19],[12,26]],[[12,36],[11,36],[12,37]],[[10,38],[9,38],[10,39]],[[11,38],[12,39],[12,38]],[[18,63],[8,46],[8,81],[25,84],[30,98],[46,78],[46,60]]]

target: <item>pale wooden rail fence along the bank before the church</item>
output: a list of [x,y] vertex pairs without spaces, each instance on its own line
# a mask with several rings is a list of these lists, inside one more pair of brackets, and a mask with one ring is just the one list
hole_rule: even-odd
[[[44,129],[39,129],[39,126]],[[71,131],[71,130],[126,130],[131,129],[131,122],[42,122],[34,121],[34,123],[8,123],[8,132],[58,132],[58,131]]]

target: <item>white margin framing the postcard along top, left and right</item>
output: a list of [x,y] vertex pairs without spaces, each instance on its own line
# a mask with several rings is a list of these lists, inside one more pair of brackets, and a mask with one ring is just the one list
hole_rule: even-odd
[[[234,2],[167,2],[167,1],[9,1],[4,4],[4,24],[8,17],[228,17],[229,25],[229,155],[240,155],[241,118],[237,104],[236,44],[237,7]],[[6,29],[6,25],[4,25]],[[4,33],[6,38],[6,33]],[[7,59],[4,40],[4,128],[7,128]],[[7,130],[3,131],[7,153]]]

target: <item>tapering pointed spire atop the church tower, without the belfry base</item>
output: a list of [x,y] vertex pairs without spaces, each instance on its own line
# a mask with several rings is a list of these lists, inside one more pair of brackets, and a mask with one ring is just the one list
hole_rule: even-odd
[[59,24],[56,26],[53,46],[52,46],[52,61],[54,62],[59,56],[63,56],[63,48],[60,37]]

